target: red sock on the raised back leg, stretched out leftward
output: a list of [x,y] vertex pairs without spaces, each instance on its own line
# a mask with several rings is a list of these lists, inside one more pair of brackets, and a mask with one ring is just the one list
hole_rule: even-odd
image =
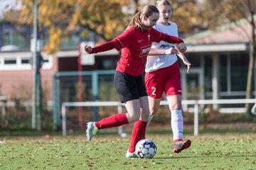
[[95,125],[100,130],[105,128],[117,127],[128,123],[129,122],[127,120],[126,113],[118,113],[96,122]]

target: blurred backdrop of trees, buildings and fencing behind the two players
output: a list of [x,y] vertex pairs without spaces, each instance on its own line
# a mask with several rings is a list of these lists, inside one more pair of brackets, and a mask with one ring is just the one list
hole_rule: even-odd
[[[256,1],[170,2],[192,64],[187,74],[179,61],[183,100],[210,100],[199,106],[199,128],[256,130]],[[146,4],[156,1],[0,0],[0,131],[61,131],[65,102],[79,102],[65,107],[68,132],[117,113],[117,106],[81,105],[119,101],[120,53],[85,55],[80,47],[116,38]],[[238,100],[214,102],[223,99]],[[194,106],[183,103],[185,128],[193,127]],[[170,117],[163,105],[152,125],[169,126]]]

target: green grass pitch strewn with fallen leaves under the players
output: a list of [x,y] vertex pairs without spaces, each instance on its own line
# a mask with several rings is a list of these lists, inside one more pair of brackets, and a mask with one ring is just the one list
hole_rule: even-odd
[[192,145],[180,154],[171,152],[171,135],[149,133],[153,159],[127,159],[129,137],[0,137],[0,169],[256,169],[255,133],[186,135]]

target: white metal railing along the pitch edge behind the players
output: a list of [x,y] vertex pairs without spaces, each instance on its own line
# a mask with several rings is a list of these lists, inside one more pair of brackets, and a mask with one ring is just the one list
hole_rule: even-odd
[[[219,99],[219,100],[188,100],[182,101],[182,105],[193,105],[194,112],[194,135],[198,135],[199,128],[199,106],[204,104],[241,104],[241,103],[256,103],[256,98],[250,99]],[[161,101],[161,106],[168,106],[167,101]],[[117,106],[118,112],[122,113],[123,104],[118,101],[85,101],[85,102],[64,102],[61,107],[63,136],[67,135],[66,128],[66,112],[68,106]],[[118,134],[122,135],[122,126],[118,128]]]

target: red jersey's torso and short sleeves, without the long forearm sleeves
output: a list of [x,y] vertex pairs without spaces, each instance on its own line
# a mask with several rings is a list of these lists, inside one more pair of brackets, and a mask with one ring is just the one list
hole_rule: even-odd
[[[134,77],[142,74],[146,57],[149,55],[151,43],[160,38],[159,33],[154,30],[129,28],[116,38],[122,45],[122,55],[117,63],[117,71],[125,72]],[[117,49],[119,50],[119,49]]]

